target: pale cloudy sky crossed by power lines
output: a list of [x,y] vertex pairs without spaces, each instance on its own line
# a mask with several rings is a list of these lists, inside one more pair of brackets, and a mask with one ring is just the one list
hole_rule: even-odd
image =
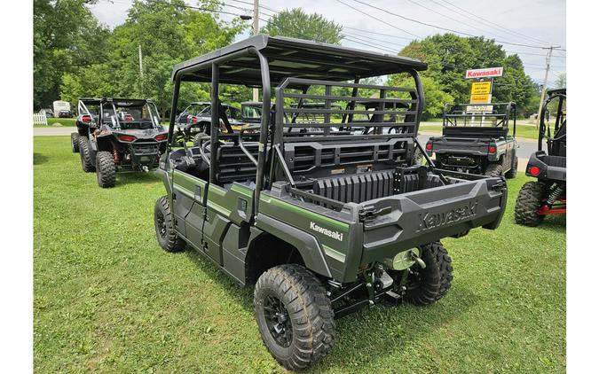
[[[100,22],[115,27],[127,18],[131,3],[132,0],[99,0],[98,4],[91,5],[90,8]],[[186,0],[186,3],[197,4],[194,0]],[[226,12],[252,12],[252,5],[246,3],[253,3],[253,0],[220,0],[220,3],[226,4],[223,8]],[[430,25],[470,35],[484,35],[498,43],[505,42],[504,50],[508,54],[518,53],[526,74],[535,82],[542,82],[544,78],[547,50],[513,44],[535,47],[555,45],[566,49],[564,0],[303,0],[297,5],[293,3],[288,0],[260,0],[260,5],[263,6],[260,18],[268,19],[273,12],[301,6],[304,12],[318,12],[327,19],[348,27],[344,28],[346,37],[342,41],[343,45],[382,53],[397,53],[416,36],[422,38],[446,32],[384,12],[389,11]],[[226,14],[221,16],[225,20],[232,17]],[[251,20],[248,21],[250,23]],[[264,25],[263,20],[260,25]],[[238,35],[237,39],[248,36],[249,30]],[[565,55],[565,51],[554,52],[548,75],[549,87],[555,86],[559,74],[565,72]]]

